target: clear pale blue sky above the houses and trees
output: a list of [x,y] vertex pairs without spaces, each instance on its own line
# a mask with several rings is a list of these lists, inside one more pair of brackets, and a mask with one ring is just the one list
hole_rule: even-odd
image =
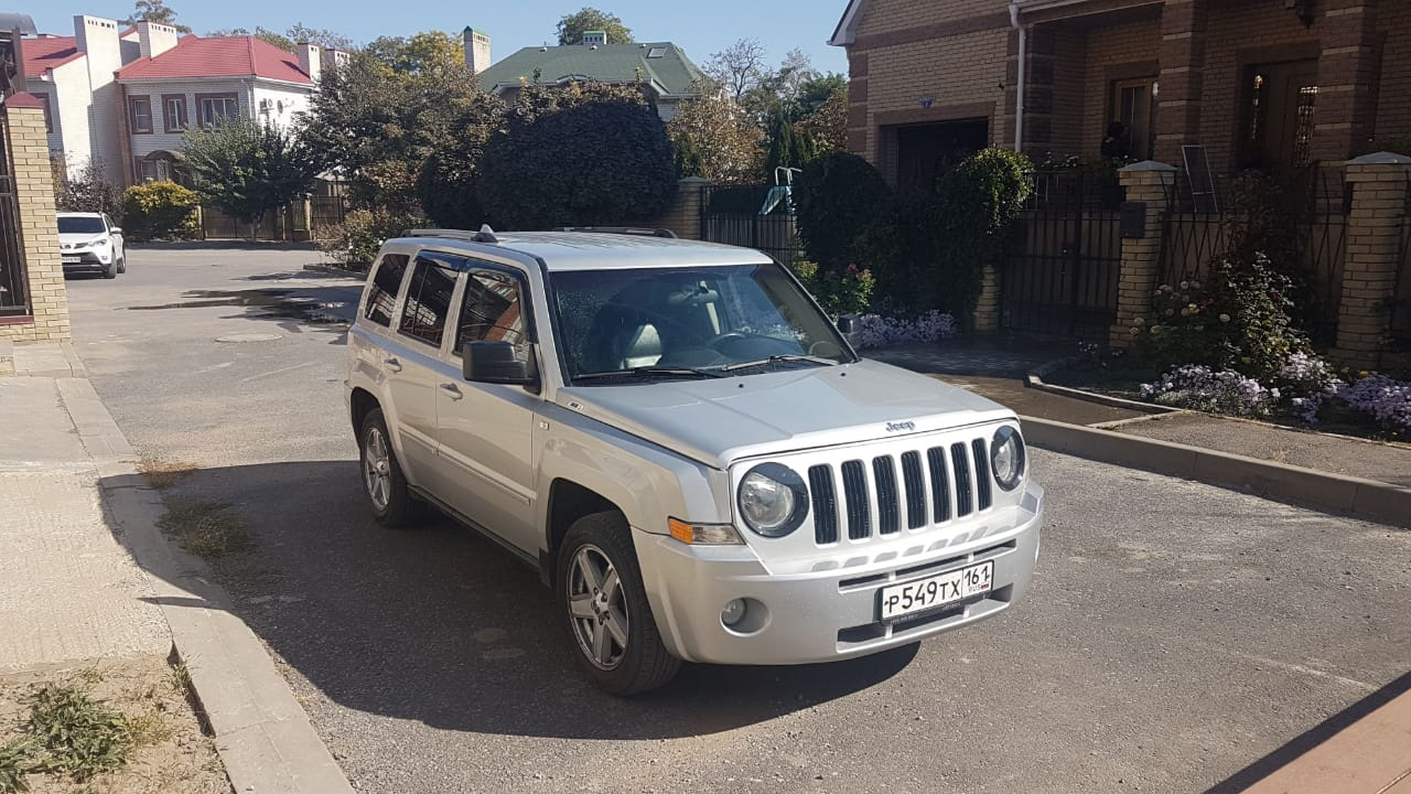
[[[785,52],[799,48],[813,58],[814,68],[847,73],[847,55],[841,47],[824,44],[842,17],[847,0],[587,0],[598,8],[622,17],[638,41],[672,41],[686,49],[696,64],[704,64],[739,38],[758,38],[777,64]],[[166,0],[176,11],[176,21],[198,34],[212,30],[257,25],[284,32],[293,23],[329,28],[356,42],[380,35],[408,35],[422,30],[460,31],[466,25],[491,37],[498,61],[521,47],[553,44],[555,25],[564,14],[577,11],[584,0],[545,3],[540,0],[497,1],[484,4],[444,0]],[[113,20],[133,11],[131,0],[41,0],[42,8],[18,8],[34,17],[41,32],[73,35],[73,14],[92,14]],[[480,6],[478,8],[476,6]],[[388,13],[394,8],[394,13]]]

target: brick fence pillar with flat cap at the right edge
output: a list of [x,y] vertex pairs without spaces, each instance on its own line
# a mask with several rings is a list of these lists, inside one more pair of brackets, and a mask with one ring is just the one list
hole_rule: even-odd
[[1401,225],[1411,211],[1411,157],[1369,154],[1348,162],[1352,215],[1342,268],[1338,346],[1331,355],[1356,369],[1380,366],[1395,297]]

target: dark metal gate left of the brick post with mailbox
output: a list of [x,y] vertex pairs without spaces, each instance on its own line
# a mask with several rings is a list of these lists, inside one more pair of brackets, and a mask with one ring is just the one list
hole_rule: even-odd
[[1116,172],[1034,174],[999,268],[1002,328],[1106,338],[1118,316],[1122,196]]

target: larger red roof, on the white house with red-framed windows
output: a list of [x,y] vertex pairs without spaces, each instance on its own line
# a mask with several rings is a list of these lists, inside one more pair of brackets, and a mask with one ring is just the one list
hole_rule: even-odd
[[140,58],[117,71],[119,79],[267,78],[313,85],[291,52],[253,35],[185,35],[157,58]]

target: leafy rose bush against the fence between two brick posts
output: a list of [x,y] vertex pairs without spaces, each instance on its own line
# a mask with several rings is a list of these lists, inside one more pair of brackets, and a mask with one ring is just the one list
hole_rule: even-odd
[[1137,352],[1154,369],[1204,365],[1264,381],[1308,339],[1290,322],[1288,277],[1264,254],[1249,266],[1223,263],[1204,281],[1163,284],[1153,295],[1154,318],[1133,326]]

